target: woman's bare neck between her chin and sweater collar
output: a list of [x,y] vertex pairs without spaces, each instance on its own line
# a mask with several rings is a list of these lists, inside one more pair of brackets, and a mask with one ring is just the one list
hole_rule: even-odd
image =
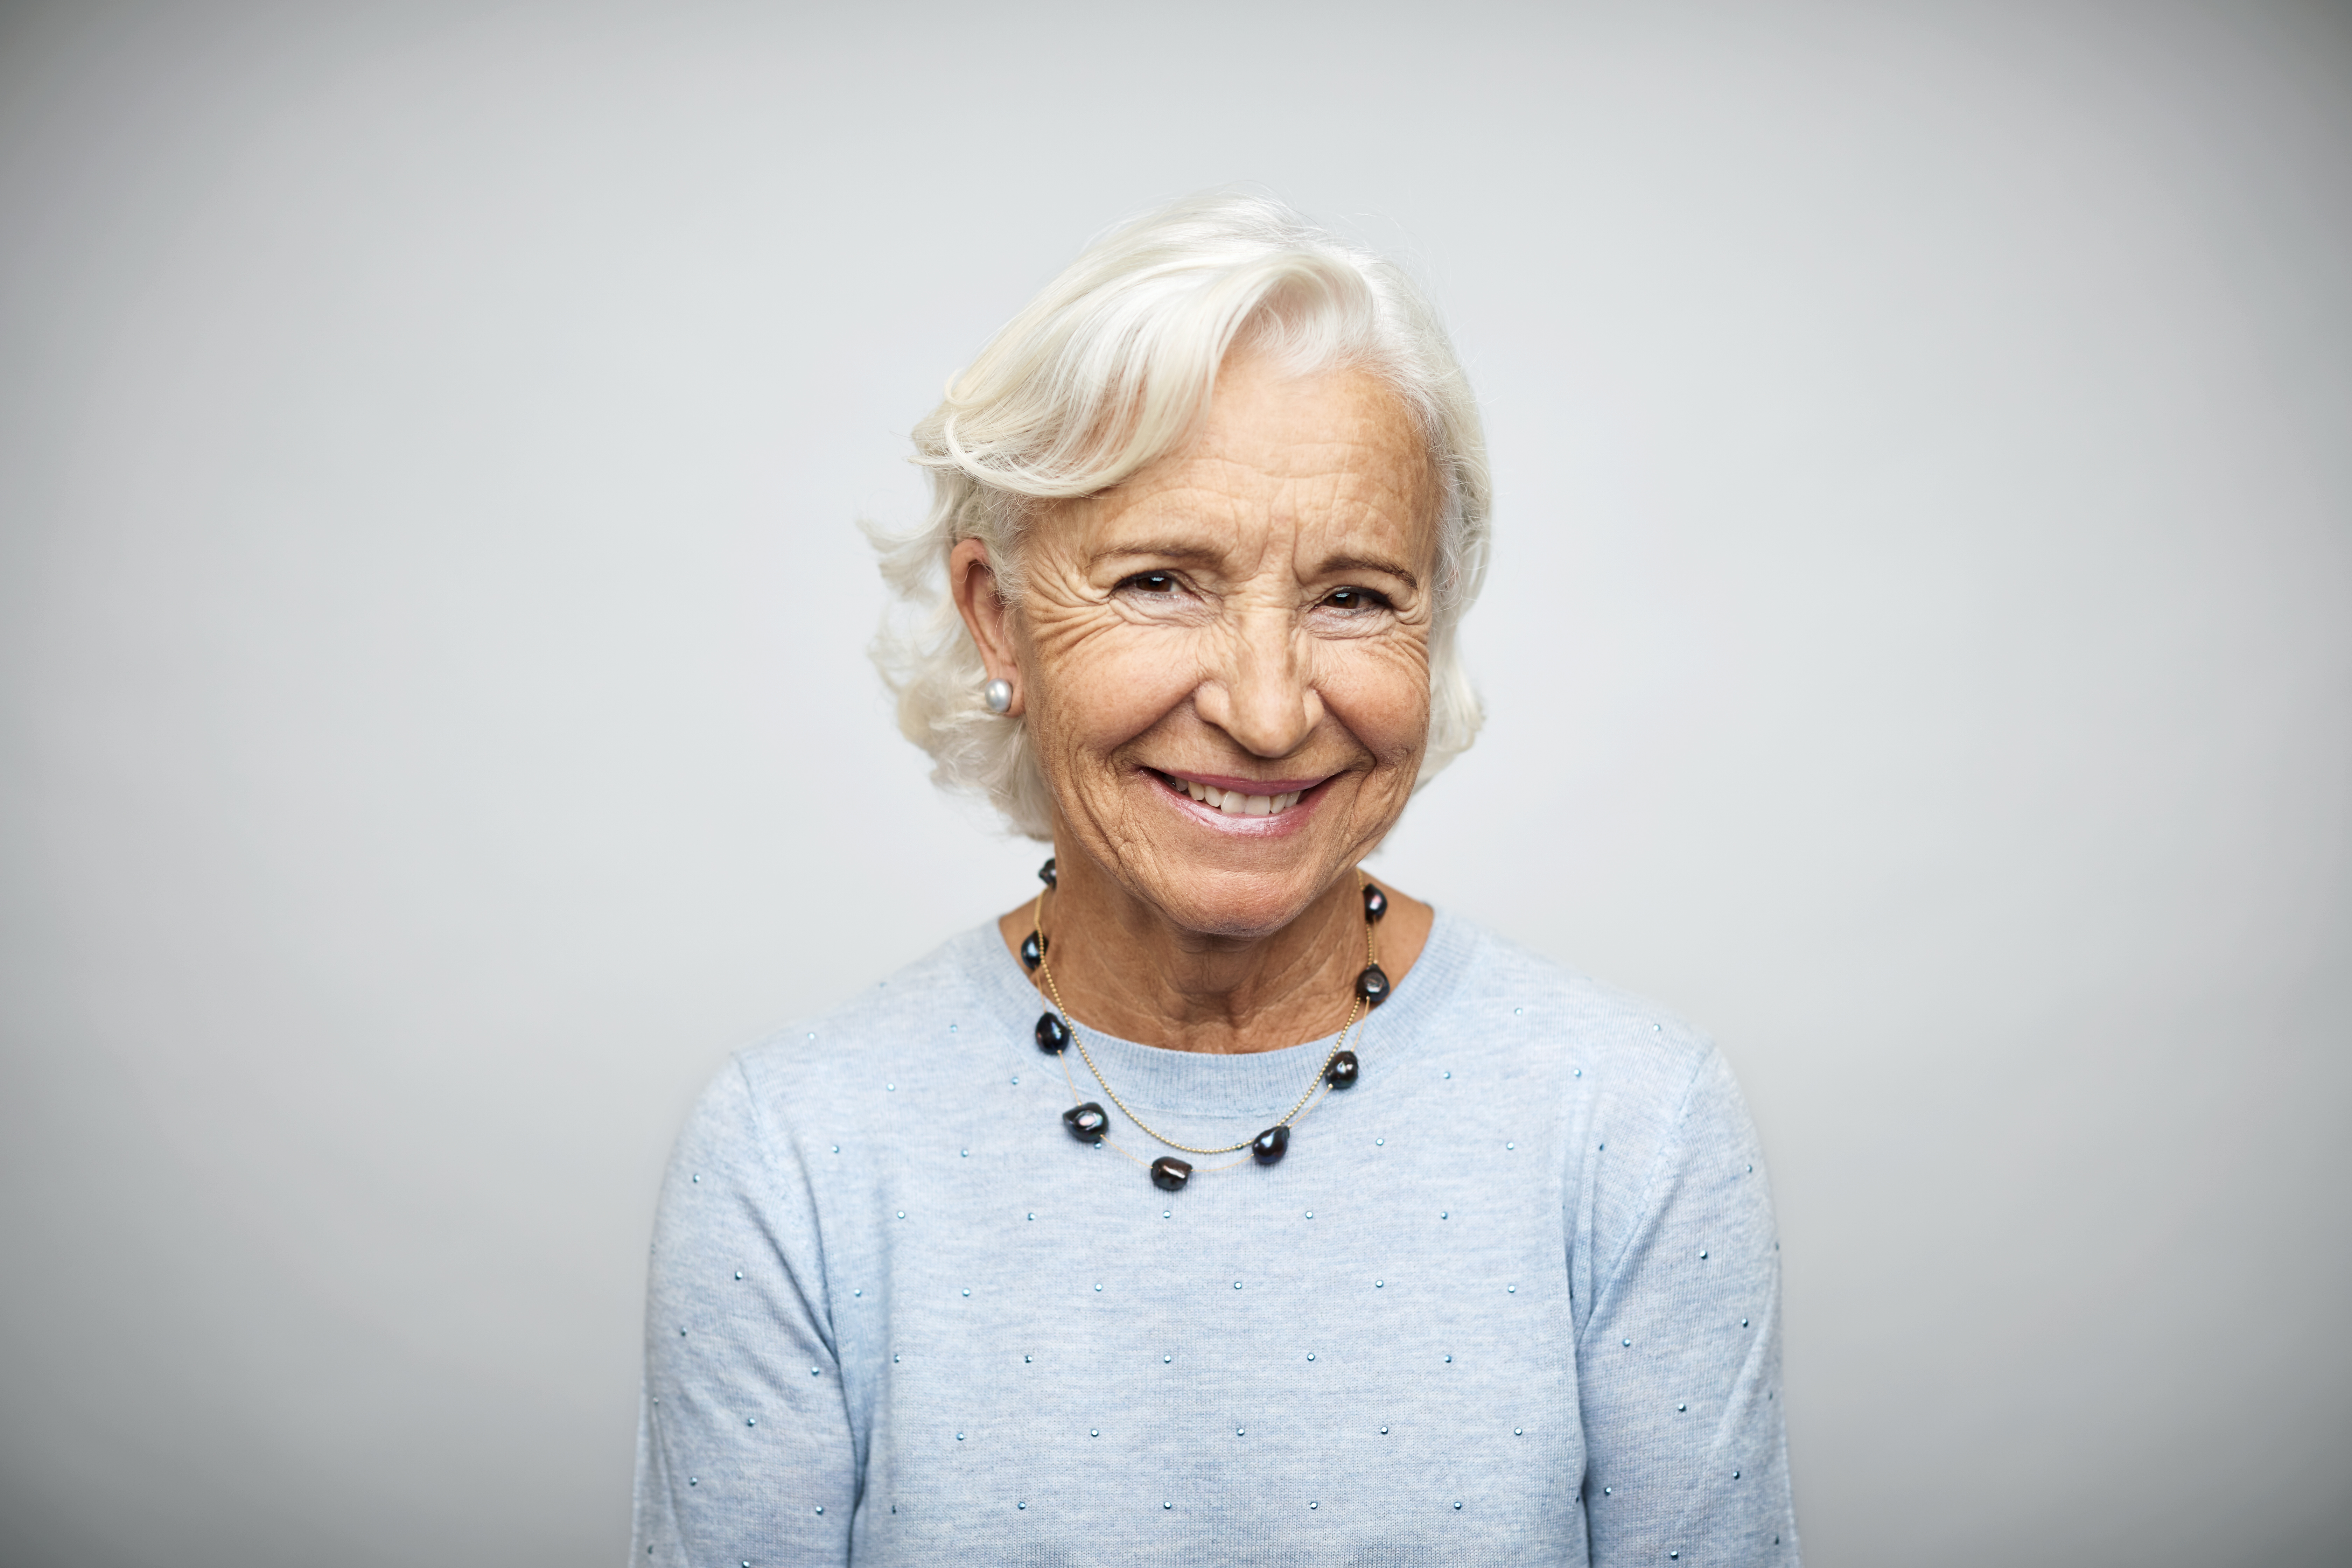
[[[1388,893],[1374,947],[1390,980],[1421,957],[1435,910]],[[1331,1034],[1355,1004],[1364,969],[1364,898],[1355,872],[1331,882],[1296,919],[1258,938],[1207,936],[1169,922],[1082,856],[1063,858],[1044,896],[1049,964],[1080,1025],[1171,1051],[1240,1056]],[[1037,903],[997,922],[1021,947]],[[1044,976],[1030,976],[1042,990]]]

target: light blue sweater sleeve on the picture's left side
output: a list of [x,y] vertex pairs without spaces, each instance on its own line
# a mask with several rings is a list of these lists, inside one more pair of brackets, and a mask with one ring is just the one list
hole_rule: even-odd
[[847,1563],[856,1476],[809,1182],[736,1065],[654,1220],[630,1561]]

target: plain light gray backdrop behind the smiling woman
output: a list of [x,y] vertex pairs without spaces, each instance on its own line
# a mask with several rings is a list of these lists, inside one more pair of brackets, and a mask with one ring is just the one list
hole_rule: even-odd
[[1221,181],[1461,334],[1378,867],[1726,1044],[1811,1561],[2352,1561],[2343,9],[393,0],[0,16],[0,1561],[623,1556],[684,1105],[1033,886],[851,520]]

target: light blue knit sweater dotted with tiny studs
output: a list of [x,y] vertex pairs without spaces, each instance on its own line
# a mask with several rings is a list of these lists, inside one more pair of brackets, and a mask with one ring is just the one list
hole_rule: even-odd
[[[1797,1561],[1771,1197],[1705,1039],[1439,914],[1362,1081],[1169,1194],[1063,1126],[1065,1070],[1110,1098],[1040,1011],[990,924],[703,1093],[633,1561]],[[1197,1145],[1329,1044],[1087,1037]]]

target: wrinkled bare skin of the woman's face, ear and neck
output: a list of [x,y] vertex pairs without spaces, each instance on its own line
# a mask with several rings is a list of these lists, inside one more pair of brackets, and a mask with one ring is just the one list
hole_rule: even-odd
[[[1355,865],[1428,745],[1437,505],[1381,381],[1237,355],[1197,442],[1033,520],[1018,604],[978,541],[955,548],[957,609],[1054,792],[1047,931],[1073,1016],[1185,1051],[1345,1018]],[[1301,799],[1230,816],[1183,780]],[[1432,914],[1385,891],[1381,964],[1402,978]],[[1004,917],[1009,945],[1030,919]]]

